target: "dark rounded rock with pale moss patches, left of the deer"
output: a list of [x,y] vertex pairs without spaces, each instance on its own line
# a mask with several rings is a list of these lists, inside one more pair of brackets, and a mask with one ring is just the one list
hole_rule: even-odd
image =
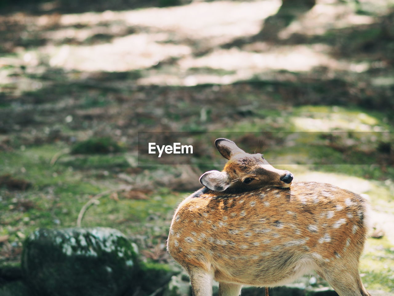
[[22,272],[37,295],[121,296],[138,280],[137,259],[116,229],[39,229],[24,242]]

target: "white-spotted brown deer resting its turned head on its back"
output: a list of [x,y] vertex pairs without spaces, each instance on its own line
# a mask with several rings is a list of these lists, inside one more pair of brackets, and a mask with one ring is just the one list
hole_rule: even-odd
[[316,271],[340,296],[370,296],[359,277],[367,201],[334,185],[293,183],[261,154],[227,139],[222,172],[175,211],[167,248],[190,275],[194,296],[238,296],[242,285],[275,287]]

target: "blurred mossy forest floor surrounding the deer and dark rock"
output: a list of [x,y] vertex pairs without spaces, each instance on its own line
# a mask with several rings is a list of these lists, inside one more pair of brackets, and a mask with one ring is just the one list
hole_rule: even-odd
[[[362,281],[394,293],[394,0],[8,0],[0,13],[0,294],[16,295],[25,238],[78,215],[171,266],[173,211],[223,167],[218,137],[368,197]],[[184,132],[198,153],[152,165],[143,131]]]

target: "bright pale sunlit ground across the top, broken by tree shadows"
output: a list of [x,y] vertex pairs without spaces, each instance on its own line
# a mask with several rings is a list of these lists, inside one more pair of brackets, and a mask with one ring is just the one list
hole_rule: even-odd
[[[377,16],[390,6],[390,1],[361,3]],[[374,60],[336,58],[327,43],[278,45],[256,41],[229,49],[221,47],[256,35],[264,19],[275,14],[280,5],[278,0],[195,1],[180,7],[104,13],[37,17],[15,13],[2,19],[26,26],[22,39],[42,39],[44,44],[31,49],[17,47],[16,56],[2,57],[0,63],[24,65],[27,72],[34,73],[45,71],[45,67],[82,72],[139,70],[142,77],[133,83],[186,86],[229,84],[254,77],[278,79],[281,74],[272,74],[278,70],[307,75],[307,71],[322,67],[327,77],[341,76],[346,71],[349,79],[354,79],[351,73],[376,67]],[[357,14],[350,2],[320,0],[279,32],[279,39],[294,34],[324,36],[329,30],[374,21],[370,15]],[[3,46],[7,47],[7,43]],[[159,63],[165,66],[158,69],[155,66]],[[7,72],[3,69],[0,73],[2,84],[21,84],[22,89],[40,87],[33,81],[29,85],[23,79],[7,77]],[[81,78],[78,74],[73,77]],[[379,83],[376,77],[375,82]],[[392,77],[386,77],[383,83],[392,84]]]

